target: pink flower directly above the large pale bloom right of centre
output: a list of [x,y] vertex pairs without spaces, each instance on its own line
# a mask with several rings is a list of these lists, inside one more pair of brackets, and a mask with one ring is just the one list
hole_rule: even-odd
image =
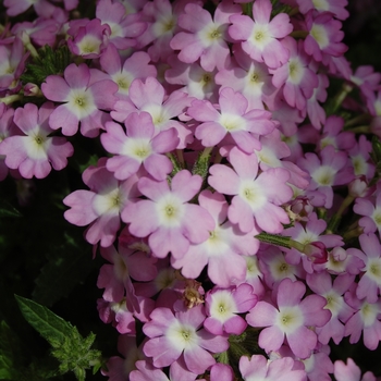
[[258,135],[266,135],[273,131],[274,123],[270,121],[271,113],[265,110],[247,110],[247,99],[232,88],[221,89],[220,112],[208,100],[194,100],[187,113],[198,122],[195,136],[205,147],[212,147],[221,143],[230,134],[246,153],[260,150]]

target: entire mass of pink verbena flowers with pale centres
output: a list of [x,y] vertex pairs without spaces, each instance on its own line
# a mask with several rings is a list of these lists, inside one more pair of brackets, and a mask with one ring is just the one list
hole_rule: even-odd
[[105,258],[102,374],[360,380],[330,345],[381,341],[381,74],[344,56],[347,1],[61,2],[4,1],[38,17],[1,32],[0,179],[101,146],[62,202]]

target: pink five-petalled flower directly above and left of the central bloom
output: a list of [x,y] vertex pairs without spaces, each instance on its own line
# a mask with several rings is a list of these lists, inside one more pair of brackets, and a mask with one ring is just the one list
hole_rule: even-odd
[[114,122],[107,122],[107,133],[100,140],[105,149],[114,153],[107,161],[107,169],[114,172],[118,180],[126,180],[143,165],[155,180],[162,181],[173,165],[165,155],[176,148],[177,132],[170,128],[155,135],[151,115],[134,112],[124,122],[126,133]]

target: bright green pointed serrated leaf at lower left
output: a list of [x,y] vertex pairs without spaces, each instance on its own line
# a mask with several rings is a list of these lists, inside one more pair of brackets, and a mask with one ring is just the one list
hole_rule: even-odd
[[26,321],[54,348],[62,345],[73,331],[71,323],[50,309],[19,295],[15,298]]

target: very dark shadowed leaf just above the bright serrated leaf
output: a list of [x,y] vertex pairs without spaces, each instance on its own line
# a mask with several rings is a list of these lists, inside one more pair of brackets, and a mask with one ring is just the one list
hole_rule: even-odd
[[52,306],[86,279],[94,268],[90,246],[82,247],[71,235],[64,235],[65,243],[53,247],[48,262],[36,279],[33,299],[45,306]]

